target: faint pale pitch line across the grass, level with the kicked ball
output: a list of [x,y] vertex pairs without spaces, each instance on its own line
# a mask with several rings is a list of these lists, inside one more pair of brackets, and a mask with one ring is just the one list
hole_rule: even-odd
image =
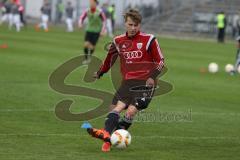
[[[89,135],[81,135],[81,134],[69,134],[69,133],[26,133],[26,134],[14,134],[14,133],[1,133],[0,137],[3,136],[32,136],[32,137],[89,137]],[[195,137],[186,137],[186,136],[141,136],[141,135],[133,135],[133,138],[141,138],[141,139],[189,139],[189,140],[240,140],[240,137],[211,137],[211,136],[195,136]]]

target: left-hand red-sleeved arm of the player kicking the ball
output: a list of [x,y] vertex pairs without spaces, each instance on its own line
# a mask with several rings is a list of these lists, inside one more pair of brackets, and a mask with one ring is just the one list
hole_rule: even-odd
[[104,73],[108,72],[109,69],[112,67],[112,65],[115,63],[116,59],[118,57],[118,50],[114,43],[111,44],[107,57],[104,60],[104,63],[100,67],[100,69],[95,73],[94,77],[99,79],[101,76],[103,76]]

